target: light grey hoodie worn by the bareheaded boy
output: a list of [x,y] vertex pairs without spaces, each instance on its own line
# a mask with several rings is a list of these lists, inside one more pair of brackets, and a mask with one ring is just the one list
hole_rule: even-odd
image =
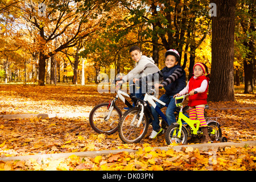
[[123,82],[127,80],[133,80],[133,78],[139,78],[147,76],[148,74],[156,73],[160,71],[155,65],[155,61],[152,57],[142,55],[138,63],[135,64],[135,68],[132,69],[126,76],[122,78]]

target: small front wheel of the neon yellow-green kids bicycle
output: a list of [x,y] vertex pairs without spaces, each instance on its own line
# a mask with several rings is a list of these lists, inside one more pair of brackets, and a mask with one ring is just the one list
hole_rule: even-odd
[[[181,136],[180,136],[181,139],[177,138],[177,133],[179,131],[179,127],[180,127],[180,125],[170,125],[167,128],[165,138],[166,138],[166,143],[168,145],[171,144],[171,143],[187,144],[187,142],[188,142],[188,132],[187,132],[187,130],[185,129],[184,126],[181,127]],[[176,133],[176,135],[175,135],[175,133]]]

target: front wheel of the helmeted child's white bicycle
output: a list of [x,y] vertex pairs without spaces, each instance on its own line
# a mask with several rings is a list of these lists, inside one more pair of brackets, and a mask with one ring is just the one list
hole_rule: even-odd
[[138,126],[139,117],[141,113],[140,107],[129,109],[123,114],[119,125],[119,138],[124,143],[137,143],[143,139],[148,129],[148,117],[143,113],[143,119]]

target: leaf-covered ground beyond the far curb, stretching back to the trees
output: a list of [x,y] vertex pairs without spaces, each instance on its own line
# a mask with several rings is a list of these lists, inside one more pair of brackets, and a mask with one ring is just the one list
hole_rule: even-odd
[[[236,102],[209,102],[210,108],[255,107],[255,94],[243,94],[236,87]],[[159,90],[160,95],[164,89]],[[115,93],[98,93],[96,85],[29,86],[0,85],[0,114],[84,113],[108,102]],[[125,105],[118,100],[122,109]]]

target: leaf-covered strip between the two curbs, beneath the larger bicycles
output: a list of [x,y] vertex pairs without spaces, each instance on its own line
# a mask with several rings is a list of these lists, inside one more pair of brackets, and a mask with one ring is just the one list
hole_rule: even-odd
[[[255,140],[255,110],[250,114],[243,110],[214,111],[211,117],[220,117],[222,136],[229,142]],[[138,150],[143,143],[151,147],[167,146],[164,135],[149,139],[152,127],[140,143],[124,144],[118,133],[98,134],[89,125],[88,118],[26,118],[0,119],[0,156],[54,154],[60,152],[81,152],[117,150],[131,148]]]

